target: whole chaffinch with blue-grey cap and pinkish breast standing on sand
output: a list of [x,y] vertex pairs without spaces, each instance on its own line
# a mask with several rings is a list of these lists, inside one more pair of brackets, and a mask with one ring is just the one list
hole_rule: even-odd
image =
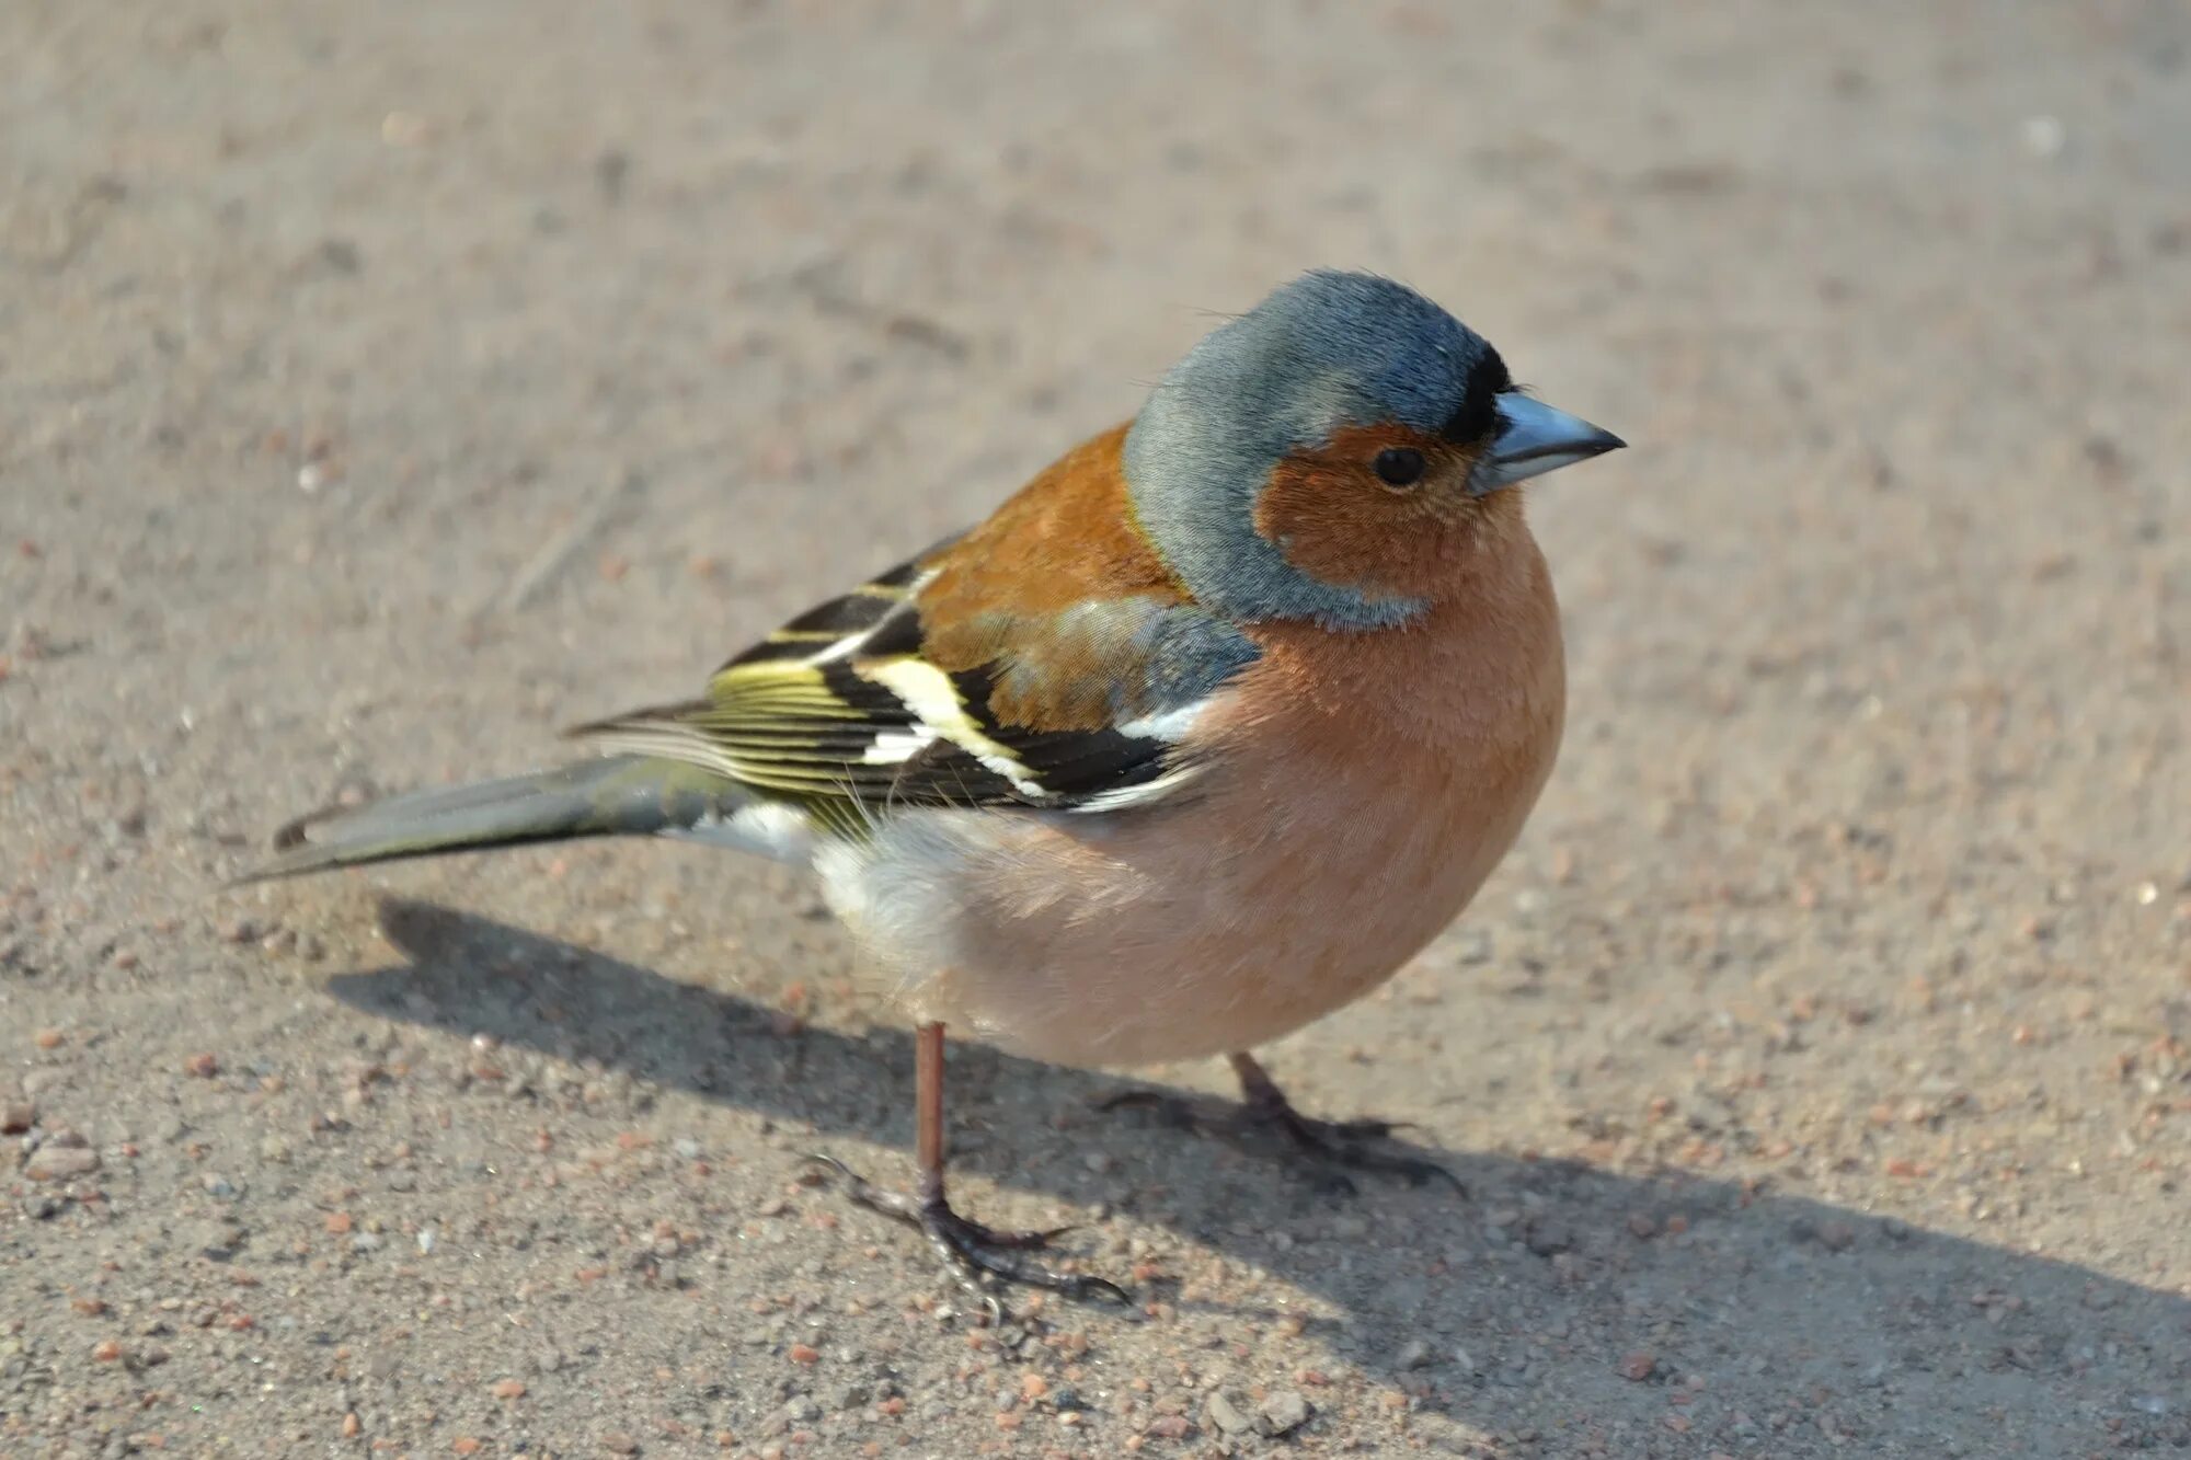
[[[1560,609],[1523,493],[1626,445],[1413,287],[1312,270],[986,520],[789,618],[543,772],[318,811],[239,881],[664,835],[813,870],[914,1024],[916,1168],[850,1199],[997,1291],[1131,1300],[947,1190],[947,1030],[1131,1068],[1223,1054],[1225,1120],[1446,1175],[1299,1114],[1253,1050],[1369,993],[1518,837],[1560,748]],[[1450,1177],[1448,1177],[1450,1179]],[[1457,1182],[1455,1182],[1457,1186]]]

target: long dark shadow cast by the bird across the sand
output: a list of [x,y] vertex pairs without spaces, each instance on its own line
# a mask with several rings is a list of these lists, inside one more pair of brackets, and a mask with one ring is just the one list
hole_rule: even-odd
[[[898,1028],[787,1033],[754,1002],[432,903],[392,899],[381,927],[408,962],[331,980],[362,1011],[594,1059],[808,1127],[824,1147],[911,1142]],[[1122,1087],[1111,1076],[955,1046],[951,1079],[964,1168],[1080,1208],[1117,1201],[1315,1293],[1347,1313],[1332,1333],[1347,1355],[1389,1368],[1418,1346],[1420,1372],[1479,1423],[1518,1418],[1523,1394],[1553,1385],[1582,1414],[1650,1425],[1685,1403],[1654,1388],[1663,1375],[1740,1370],[1770,1377],[1812,1436],[1875,1427],[1860,1453],[1948,1453],[1904,1447],[2040,1410],[2090,1416],[2095,1447],[2191,1445],[2178,1403],[2191,1300],[2070,1261],[1694,1173],[1470,1151],[1424,1151],[1468,1201],[1369,1177],[1350,1204],[1196,1136],[1096,1114]],[[879,1179],[909,1175],[868,1160]],[[911,1241],[905,1254],[927,1261]],[[2138,1388],[2156,1379],[2176,1394]],[[1836,1403],[1869,1421],[1821,1418]]]

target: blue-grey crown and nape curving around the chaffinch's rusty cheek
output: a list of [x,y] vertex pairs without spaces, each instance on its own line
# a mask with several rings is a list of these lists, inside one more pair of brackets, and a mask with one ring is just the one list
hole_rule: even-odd
[[1407,285],[1317,270],[1201,340],[1126,434],[1126,482],[1157,550],[1209,609],[1372,629],[1422,612],[1293,568],[1255,533],[1255,493],[1343,425],[1439,432],[1505,384],[1475,331]]

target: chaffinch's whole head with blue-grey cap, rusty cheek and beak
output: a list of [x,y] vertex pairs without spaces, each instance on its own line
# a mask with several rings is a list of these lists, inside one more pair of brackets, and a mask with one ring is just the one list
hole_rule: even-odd
[[1437,601],[1510,487],[1621,441],[1407,285],[1319,270],[1196,344],[1126,434],[1150,541],[1205,607],[1332,629]]

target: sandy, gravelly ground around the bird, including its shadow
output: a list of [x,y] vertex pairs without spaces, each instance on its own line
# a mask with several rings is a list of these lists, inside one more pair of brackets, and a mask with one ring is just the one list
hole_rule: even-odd
[[[0,7],[0,1453],[2191,1445],[2191,20],[1685,9]],[[1523,846],[1269,1050],[1472,1199],[964,1048],[964,1206],[1150,1304],[975,1333],[800,1184],[911,1059],[795,877],[215,892],[1317,263],[1634,443]]]

